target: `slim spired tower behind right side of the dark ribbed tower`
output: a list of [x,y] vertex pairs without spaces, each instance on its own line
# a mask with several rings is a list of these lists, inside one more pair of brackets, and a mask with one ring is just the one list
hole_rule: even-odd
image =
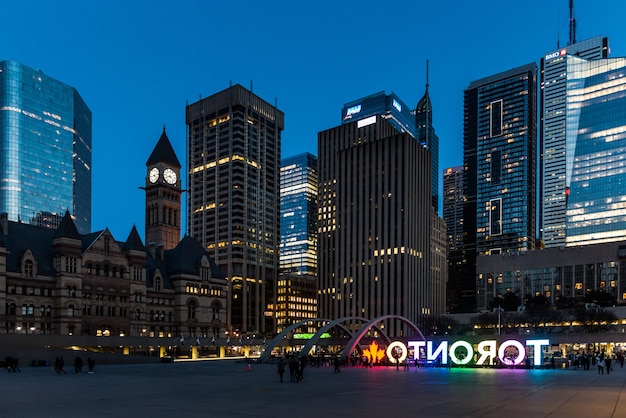
[[[427,70],[428,72],[428,70]],[[432,159],[432,202],[435,212],[439,211],[439,138],[433,127],[433,107],[428,95],[428,76],[426,92],[415,109],[415,137],[420,144],[428,148]]]

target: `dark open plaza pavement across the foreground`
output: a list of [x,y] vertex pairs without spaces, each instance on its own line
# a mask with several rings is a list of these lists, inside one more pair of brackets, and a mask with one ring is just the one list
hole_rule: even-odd
[[[83,359],[85,360],[85,359]],[[66,363],[72,363],[66,359]],[[234,361],[0,373],[2,417],[626,417],[626,368],[590,371],[307,367]],[[86,370],[86,367],[85,367]]]

